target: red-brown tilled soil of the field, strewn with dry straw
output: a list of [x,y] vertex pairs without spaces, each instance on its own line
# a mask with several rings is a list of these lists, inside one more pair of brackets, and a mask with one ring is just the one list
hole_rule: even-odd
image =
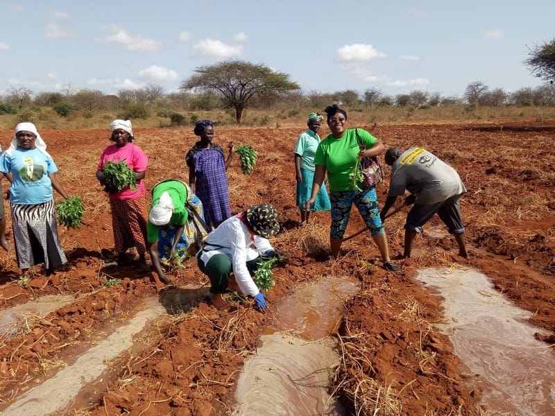
[[[330,262],[325,253],[313,254],[314,250],[307,254],[307,241],[312,249],[315,241],[327,248],[330,220],[328,213],[316,213],[317,225],[298,226],[292,149],[303,128],[216,127],[219,144],[230,140],[251,144],[259,153],[255,172],[248,177],[241,174],[237,156],[232,162],[228,171],[232,211],[270,202],[280,213],[283,231],[273,243],[287,253],[289,263],[275,269],[277,284],[268,294],[269,312],[262,314],[237,303],[237,310],[219,313],[206,299],[196,300],[190,311],[174,315],[173,322],[149,338],[143,351],[112,363],[114,381],[104,386],[91,407],[73,409],[71,414],[74,410],[110,416],[127,412],[225,414],[232,406],[234,381],[244,359],[255,351],[259,335],[272,322],[273,305],[300,282],[327,274],[353,275],[361,284],[339,327],[343,363],[334,381],[348,406],[362,379],[369,380],[364,385],[373,385],[357,393],[360,415],[481,412],[477,404],[481,392],[475,388],[474,376],[454,356],[448,338],[432,327],[442,320],[440,300],[413,281],[418,268],[459,264],[483,270],[499,291],[535,313],[531,323],[541,328],[537,337],[554,342],[555,121],[375,126],[373,134],[386,146],[423,146],[452,164],[468,188],[461,211],[470,258],[456,256],[450,236],[418,236],[413,259],[399,261],[402,272],[398,274],[379,267],[378,252],[368,234],[345,243],[339,261]],[[187,180],[184,156],[196,140],[191,130],[136,129],[137,144],[150,157],[149,190],[169,177]],[[108,130],[46,130],[41,134],[60,168],[60,182],[71,195],[83,198],[85,225],[69,230],[59,227],[68,266],[51,277],[44,277],[44,270],[37,266],[27,287],[18,282],[15,254],[0,252],[0,308],[46,294],[77,297],[73,304],[35,320],[22,333],[1,338],[0,410],[54,374],[69,357],[98,339],[108,324],[124,319],[144,297],[164,293],[164,285],[153,273],[141,275],[133,267],[101,270],[103,263],[114,258],[110,209],[94,176],[99,155],[109,144]],[[0,135],[6,148],[12,132],[0,131]],[[382,202],[386,189],[386,183],[379,184]],[[6,209],[9,212],[7,202]],[[404,212],[386,220],[393,256],[402,252]],[[347,234],[361,225],[354,212]],[[445,232],[438,218],[426,228]],[[11,232],[8,239],[12,239]],[[103,271],[122,284],[103,288]],[[194,261],[187,261],[186,268],[171,277],[177,286],[206,283]],[[389,389],[386,396],[396,410],[386,413],[380,402],[381,413],[373,413],[377,388],[384,389],[381,400]]]

